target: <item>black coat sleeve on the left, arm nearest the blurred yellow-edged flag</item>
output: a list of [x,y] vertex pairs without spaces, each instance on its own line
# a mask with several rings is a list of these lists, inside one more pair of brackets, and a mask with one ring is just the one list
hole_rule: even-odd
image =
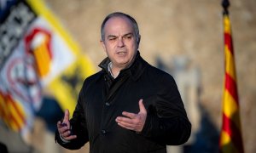
[[72,134],[77,135],[77,138],[71,140],[70,142],[64,143],[60,138],[60,133],[58,133],[58,130],[55,132],[55,141],[69,150],[79,150],[89,140],[86,120],[84,116],[83,88],[80,91],[78,104],[76,105],[75,111],[73,112],[73,117],[70,120]]

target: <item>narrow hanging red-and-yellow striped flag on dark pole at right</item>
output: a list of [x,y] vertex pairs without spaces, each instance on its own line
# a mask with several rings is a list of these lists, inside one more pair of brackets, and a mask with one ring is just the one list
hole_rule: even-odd
[[219,150],[223,153],[243,153],[239,99],[236,83],[235,53],[232,44],[228,0],[224,7],[224,97],[223,125],[219,139]]

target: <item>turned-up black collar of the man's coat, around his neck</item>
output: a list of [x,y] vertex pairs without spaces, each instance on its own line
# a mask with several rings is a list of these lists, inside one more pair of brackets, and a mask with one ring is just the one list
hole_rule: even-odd
[[[102,68],[102,75],[103,74],[109,74],[108,72],[108,64],[110,62],[110,59],[107,57],[106,59],[103,59],[102,62],[98,65],[99,67]],[[140,52],[137,51],[137,55],[135,60],[133,61],[132,65],[124,70],[121,70],[119,75],[130,75],[133,81],[137,81],[139,77],[143,74],[145,65],[147,62],[141,57]],[[100,75],[100,76],[102,76]]]

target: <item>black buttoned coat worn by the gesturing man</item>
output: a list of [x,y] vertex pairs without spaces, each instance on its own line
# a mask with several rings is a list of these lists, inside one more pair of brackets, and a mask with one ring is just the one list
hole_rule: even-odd
[[[139,52],[135,62],[120,71],[116,79],[108,72],[109,59],[99,65],[102,71],[84,81],[71,119],[77,139],[63,144],[79,149],[90,142],[90,153],[166,152],[166,144],[183,144],[190,136],[191,124],[173,77],[149,65]],[[148,115],[141,133],[119,127],[115,118],[122,111],[139,112],[143,99]]]

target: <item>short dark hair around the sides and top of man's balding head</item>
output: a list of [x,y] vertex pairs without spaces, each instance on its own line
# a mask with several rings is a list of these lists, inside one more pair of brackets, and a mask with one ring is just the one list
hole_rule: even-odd
[[106,16],[106,18],[103,20],[102,27],[101,27],[102,41],[105,40],[105,32],[104,32],[105,25],[106,25],[107,21],[113,17],[125,17],[131,21],[133,30],[135,31],[136,42],[137,42],[137,45],[139,45],[141,37],[140,37],[139,28],[137,26],[137,21],[134,18],[132,18],[131,15],[124,14],[122,12],[114,12],[112,14],[108,14],[108,16]]

